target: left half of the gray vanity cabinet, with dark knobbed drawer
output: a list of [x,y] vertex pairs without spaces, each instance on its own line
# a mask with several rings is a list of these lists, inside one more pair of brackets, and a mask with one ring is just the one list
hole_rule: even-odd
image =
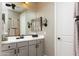
[[28,42],[17,42],[2,45],[3,56],[28,56]]

